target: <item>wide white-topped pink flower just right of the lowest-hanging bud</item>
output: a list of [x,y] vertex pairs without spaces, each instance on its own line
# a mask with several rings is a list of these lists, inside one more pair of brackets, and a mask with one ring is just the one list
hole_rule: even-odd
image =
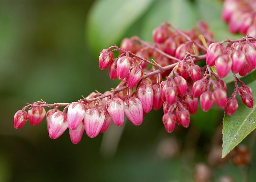
[[94,138],[99,134],[104,119],[104,113],[97,108],[91,108],[85,112],[85,131],[90,138]]

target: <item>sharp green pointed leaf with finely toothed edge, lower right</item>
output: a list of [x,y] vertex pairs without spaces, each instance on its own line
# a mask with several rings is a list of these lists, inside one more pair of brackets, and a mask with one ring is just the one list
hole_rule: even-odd
[[[256,97],[256,81],[249,85],[253,97]],[[225,114],[222,129],[222,157],[233,150],[251,131],[256,128],[256,105],[252,109],[246,107],[238,99],[238,110],[231,116]]]

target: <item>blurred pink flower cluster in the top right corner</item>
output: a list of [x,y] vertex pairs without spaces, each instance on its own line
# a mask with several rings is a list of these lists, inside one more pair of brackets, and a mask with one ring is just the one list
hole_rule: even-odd
[[228,22],[229,31],[256,37],[256,1],[225,0],[222,20]]

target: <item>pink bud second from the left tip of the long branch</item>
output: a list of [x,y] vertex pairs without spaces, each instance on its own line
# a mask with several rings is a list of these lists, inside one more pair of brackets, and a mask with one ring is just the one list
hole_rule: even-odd
[[[37,102],[34,102],[33,104],[37,104]],[[43,120],[45,113],[46,112],[43,107],[29,108],[28,119],[30,124],[32,124],[33,126],[39,125]]]

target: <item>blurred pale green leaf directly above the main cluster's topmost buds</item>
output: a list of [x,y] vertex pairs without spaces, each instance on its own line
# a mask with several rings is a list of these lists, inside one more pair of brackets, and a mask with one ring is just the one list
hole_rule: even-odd
[[197,20],[196,5],[190,0],[155,1],[142,22],[140,37],[152,41],[152,30],[165,21],[179,29],[189,30],[196,25]]

